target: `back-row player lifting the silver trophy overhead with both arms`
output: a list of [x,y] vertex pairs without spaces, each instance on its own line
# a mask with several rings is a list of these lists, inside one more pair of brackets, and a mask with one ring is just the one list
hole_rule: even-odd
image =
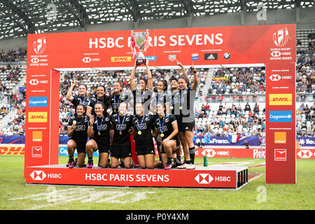
[[[137,70],[137,60],[134,61],[134,68],[132,69],[132,73],[130,75],[130,87],[132,90],[132,94],[134,96],[134,114],[136,114],[136,104],[142,103],[144,104],[144,113],[148,113],[150,110],[150,101],[151,95],[153,92],[153,82],[152,82],[152,74],[148,67],[148,59],[146,59],[146,72],[148,74],[148,80],[144,78],[140,78],[138,81],[138,86],[134,81]],[[148,87],[148,90],[146,88]]]

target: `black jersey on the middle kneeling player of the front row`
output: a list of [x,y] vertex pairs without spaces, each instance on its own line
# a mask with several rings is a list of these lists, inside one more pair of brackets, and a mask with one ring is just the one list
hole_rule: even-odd
[[129,130],[132,127],[133,118],[134,116],[131,114],[126,114],[125,117],[119,116],[118,113],[111,115],[111,124],[114,130],[112,146],[131,145]]

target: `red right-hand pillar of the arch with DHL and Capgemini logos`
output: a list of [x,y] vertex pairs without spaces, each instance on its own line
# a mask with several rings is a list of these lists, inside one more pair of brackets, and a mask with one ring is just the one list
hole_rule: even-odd
[[295,183],[295,63],[266,69],[266,183]]

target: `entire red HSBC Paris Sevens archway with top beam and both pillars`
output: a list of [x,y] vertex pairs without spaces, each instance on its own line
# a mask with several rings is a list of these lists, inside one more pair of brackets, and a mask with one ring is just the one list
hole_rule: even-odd
[[[131,31],[98,31],[28,35],[27,183],[45,183],[43,179],[58,180],[62,175],[71,180],[70,174],[48,176],[38,169],[38,166],[58,164],[59,71],[68,68],[131,69],[134,58],[130,50],[130,34]],[[155,29],[149,30],[149,36],[150,46],[145,55],[151,56],[149,65],[152,69],[154,66],[174,67],[174,55],[186,66],[193,60],[196,67],[265,64],[266,183],[296,183],[295,24]],[[30,99],[39,99],[30,97],[47,97],[48,103],[29,106]],[[41,141],[34,141],[38,133]]]

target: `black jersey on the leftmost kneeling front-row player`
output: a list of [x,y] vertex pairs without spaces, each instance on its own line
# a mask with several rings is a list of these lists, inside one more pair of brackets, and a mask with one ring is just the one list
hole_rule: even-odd
[[78,116],[72,116],[68,120],[68,126],[72,126],[73,121],[76,122],[76,130],[73,132],[70,139],[86,142],[87,141],[87,127],[89,127],[89,118],[87,116],[83,116],[82,118],[78,118]]

